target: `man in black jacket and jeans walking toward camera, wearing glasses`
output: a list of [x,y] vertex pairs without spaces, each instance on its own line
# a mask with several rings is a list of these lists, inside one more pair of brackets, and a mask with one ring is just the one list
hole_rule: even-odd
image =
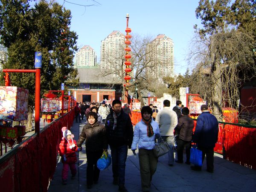
[[113,111],[107,116],[105,127],[111,148],[113,184],[119,185],[119,191],[126,192],[125,162],[133,140],[133,127],[130,116],[123,112],[118,99],[113,100],[112,106]]

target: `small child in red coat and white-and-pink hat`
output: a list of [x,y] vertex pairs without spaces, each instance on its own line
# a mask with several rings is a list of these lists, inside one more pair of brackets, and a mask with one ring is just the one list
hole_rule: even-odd
[[63,137],[61,140],[61,143],[59,145],[59,154],[62,157],[61,162],[63,163],[63,169],[62,169],[62,184],[67,184],[67,175],[68,175],[68,169],[70,167],[72,179],[76,176],[76,152],[75,151],[81,151],[80,148],[76,146],[76,140],[73,140],[74,135],[71,134],[71,131],[67,129],[67,127],[63,127],[61,129],[63,132]]

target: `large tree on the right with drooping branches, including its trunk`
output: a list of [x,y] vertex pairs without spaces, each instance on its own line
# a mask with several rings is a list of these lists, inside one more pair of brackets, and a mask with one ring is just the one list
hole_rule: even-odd
[[197,66],[193,88],[200,89],[219,120],[222,107],[239,108],[239,88],[256,76],[255,8],[253,0],[200,0],[196,9],[203,28],[195,26],[189,53]]

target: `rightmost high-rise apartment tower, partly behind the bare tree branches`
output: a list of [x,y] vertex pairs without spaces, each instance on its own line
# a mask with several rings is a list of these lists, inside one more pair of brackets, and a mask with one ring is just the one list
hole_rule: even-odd
[[[173,41],[164,34],[157,35],[147,46],[148,57],[152,60],[148,75],[160,78],[174,75]],[[149,59],[148,58],[148,59]]]

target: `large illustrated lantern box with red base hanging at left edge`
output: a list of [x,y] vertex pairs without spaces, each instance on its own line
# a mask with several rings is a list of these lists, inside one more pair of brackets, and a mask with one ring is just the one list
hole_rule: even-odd
[[26,126],[12,127],[12,122],[27,120],[29,90],[11,86],[9,73],[4,78],[6,86],[0,86],[0,143],[13,148],[26,134]]

